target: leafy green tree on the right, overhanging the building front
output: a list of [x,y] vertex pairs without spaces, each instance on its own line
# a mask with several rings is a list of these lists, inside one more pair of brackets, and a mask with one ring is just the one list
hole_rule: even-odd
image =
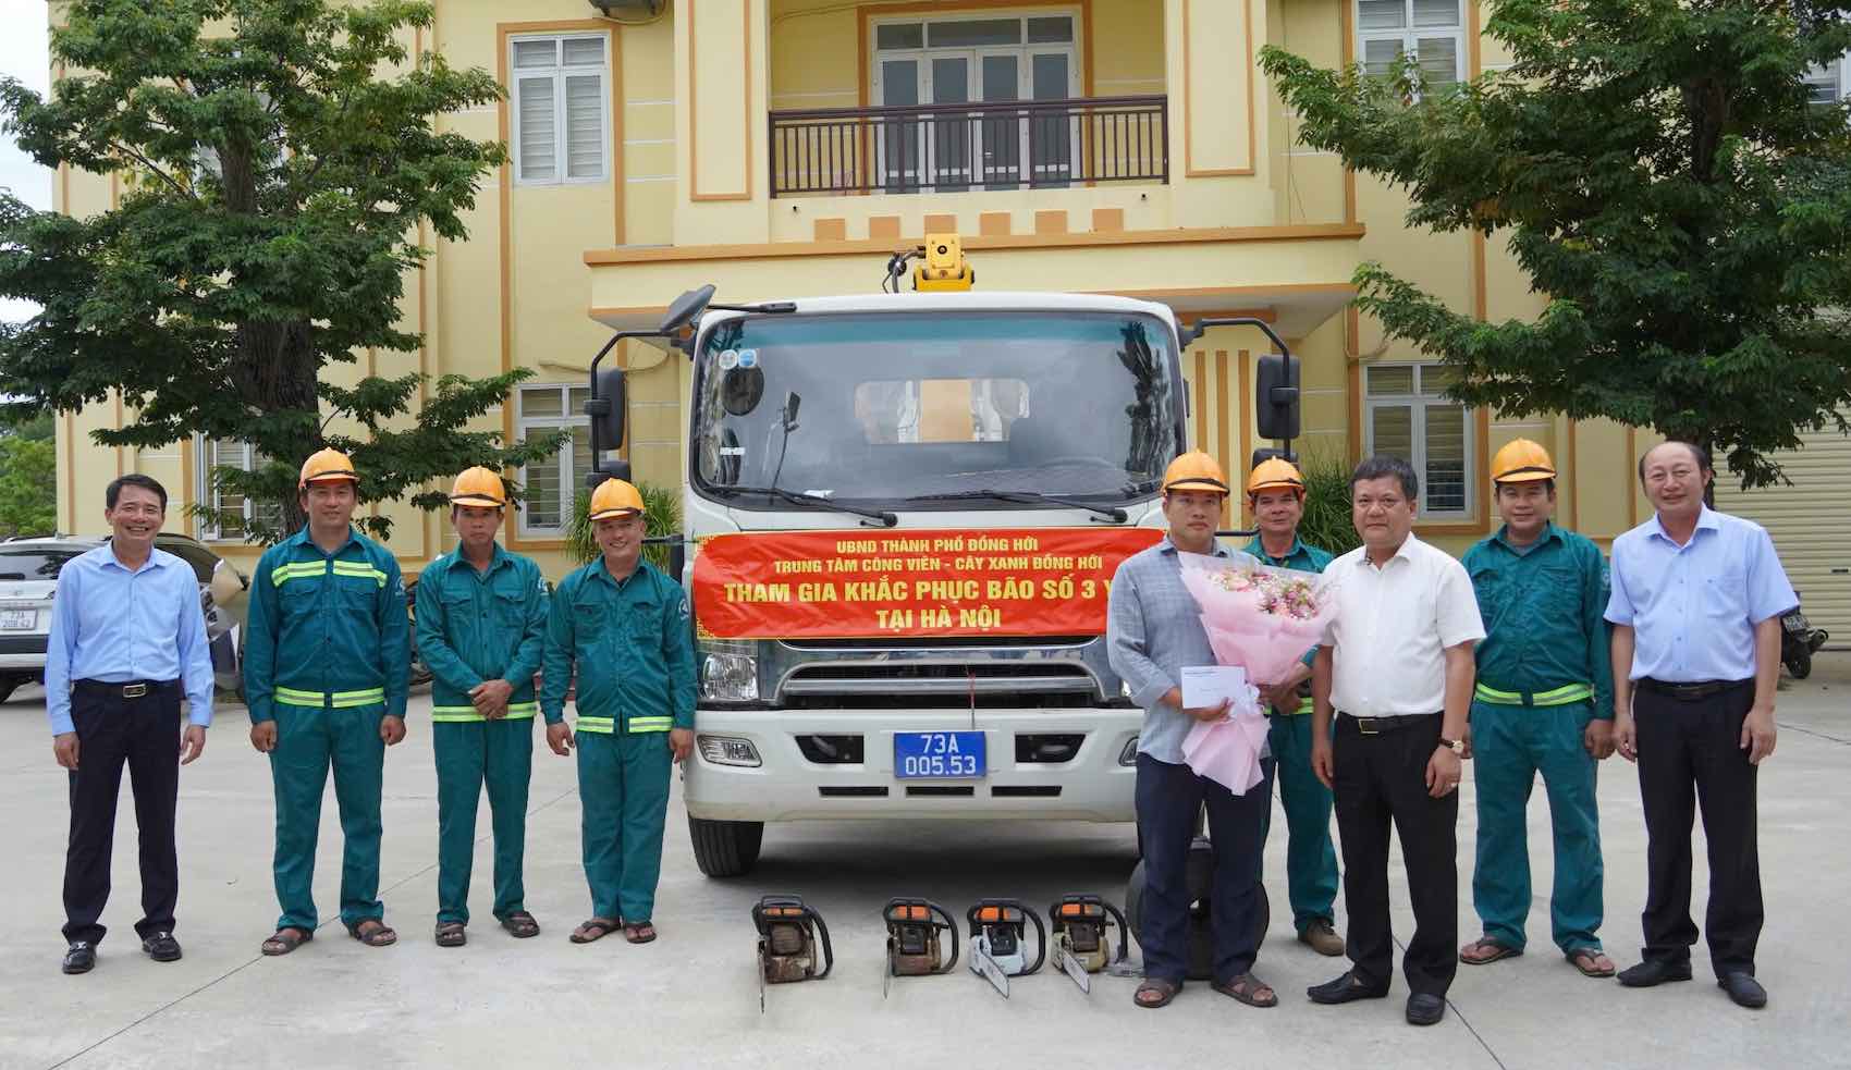
[[[1472,0],[1466,0],[1472,2]],[[1301,139],[1407,189],[1409,226],[1509,235],[1547,307],[1483,324],[1381,265],[1357,305],[1510,417],[1605,417],[1705,444],[1744,485],[1851,405],[1851,139],[1801,76],[1847,4],[1492,0],[1514,63],[1427,85],[1261,65]]]

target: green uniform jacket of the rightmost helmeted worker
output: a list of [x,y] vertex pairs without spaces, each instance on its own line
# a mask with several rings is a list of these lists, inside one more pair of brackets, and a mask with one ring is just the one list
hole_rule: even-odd
[[1505,692],[1594,687],[1594,716],[1614,715],[1607,648],[1607,563],[1588,539],[1549,524],[1534,550],[1518,554],[1505,528],[1466,550],[1485,639],[1473,653],[1479,685]]

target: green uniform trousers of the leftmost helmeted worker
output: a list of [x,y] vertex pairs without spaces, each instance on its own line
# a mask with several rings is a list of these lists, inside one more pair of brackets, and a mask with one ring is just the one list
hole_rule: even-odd
[[379,781],[385,740],[379,720],[385,705],[346,709],[276,703],[276,750],[270,781],[276,787],[276,902],[283,914],[276,927],[313,931],[315,842],[322,827],[322,794],[328,770],[335,772],[341,805],[341,922],[348,927],[381,918],[379,903]]

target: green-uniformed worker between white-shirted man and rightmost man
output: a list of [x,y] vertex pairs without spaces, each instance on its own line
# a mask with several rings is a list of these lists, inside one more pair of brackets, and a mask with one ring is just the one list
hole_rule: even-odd
[[1596,768],[1614,750],[1607,568],[1594,542],[1555,526],[1555,463],[1529,439],[1492,457],[1503,528],[1472,546],[1466,572],[1485,618],[1472,700],[1479,850],[1472,905],[1485,935],[1459,952],[1483,966],[1523,953],[1529,920],[1529,792],[1542,774],[1555,831],[1549,929],[1588,977],[1610,977],[1599,940],[1601,831]]

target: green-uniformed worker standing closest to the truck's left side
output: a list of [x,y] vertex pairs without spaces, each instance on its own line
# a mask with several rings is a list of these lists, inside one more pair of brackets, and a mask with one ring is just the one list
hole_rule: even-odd
[[[694,633],[681,585],[642,559],[642,496],[624,479],[592,491],[602,552],[553,592],[540,713],[553,753],[578,744],[585,879],[592,916],[572,933],[589,944],[622,927],[655,939],[668,772],[694,750]],[[565,700],[578,668],[578,720]]]

